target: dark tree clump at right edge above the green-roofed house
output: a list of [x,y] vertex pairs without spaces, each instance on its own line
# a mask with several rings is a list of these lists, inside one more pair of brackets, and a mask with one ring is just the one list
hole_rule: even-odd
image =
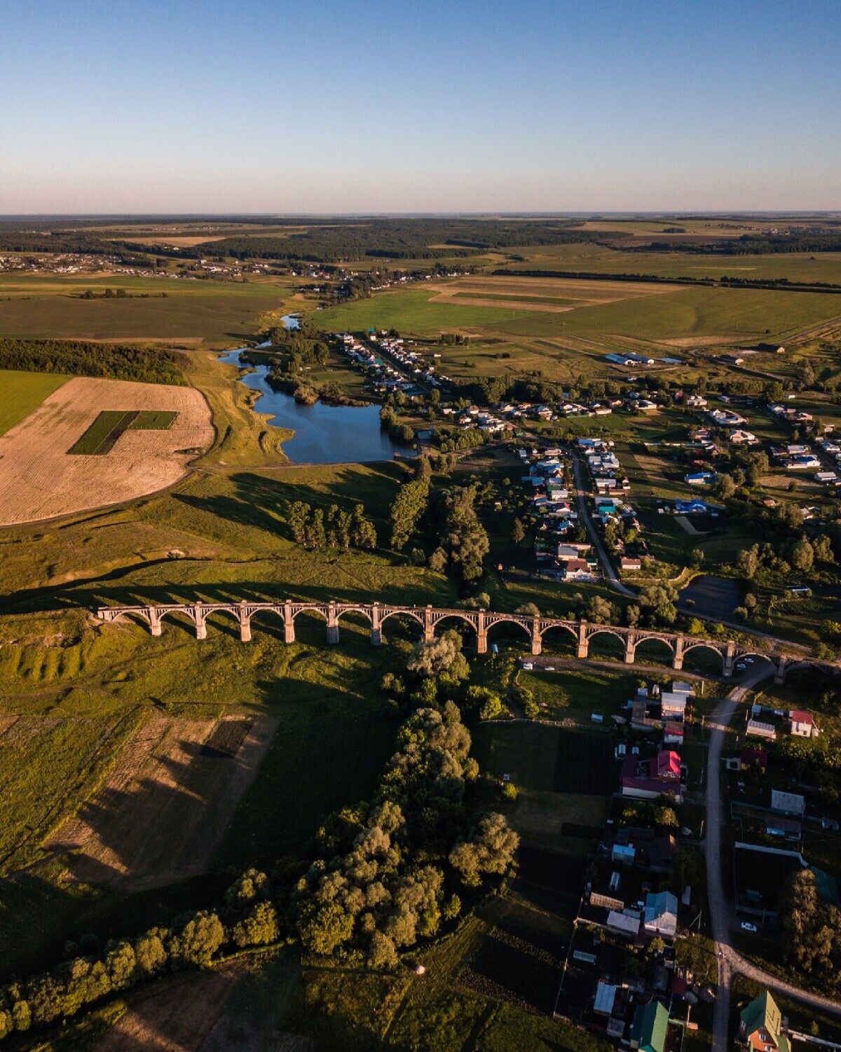
[[841,910],[821,899],[810,869],[793,874],[780,896],[780,945],[785,959],[819,974],[834,989],[841,982]]

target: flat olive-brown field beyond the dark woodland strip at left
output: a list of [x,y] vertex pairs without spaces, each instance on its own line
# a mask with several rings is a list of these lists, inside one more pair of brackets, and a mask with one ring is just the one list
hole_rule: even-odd
[[[128,295],[104,299],[105,288]],[[98,298],[81,299],[87,290]],[[278,307],[286,294],[286,286],[271,279],[240,283],[111,274],[3,275],[0,336],[236,346],[252,339],[256,319]]]

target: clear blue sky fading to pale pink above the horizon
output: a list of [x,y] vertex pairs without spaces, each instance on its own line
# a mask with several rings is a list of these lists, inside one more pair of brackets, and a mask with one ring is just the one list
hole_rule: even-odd
[[841,208],[839,0],[0,0],[0,214]]

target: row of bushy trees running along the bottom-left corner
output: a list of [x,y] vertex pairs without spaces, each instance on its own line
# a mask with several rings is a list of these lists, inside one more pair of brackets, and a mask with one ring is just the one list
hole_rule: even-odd
[[136,938],[112,939],[96,952],[86,936],[80,954],[33,978],[0,988],[0,1038],[76,1015],[109,994],[128,990],[167,972],[205,967],[224,948],[265,946],[280,938],[280,920],[263,873],[249,870],[225,893],[217,911],[176,917],[167,928],[152,928]]

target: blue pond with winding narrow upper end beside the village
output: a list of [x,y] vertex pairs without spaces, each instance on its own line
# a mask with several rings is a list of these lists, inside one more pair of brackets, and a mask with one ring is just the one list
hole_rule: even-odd
[[[240,365],[239,350],[232,350],[220,361]],[[268,423],[295,431],[283,443],[283,452],[294,464],[359,464],[392,460],[396,452],[413,457],[409,446],[393,442],[380,427],[378,405],[301,405],[292,394],[276,391],[266,380],[267,365],[252,366],[241,383],[260,391],[254,404],[255,412],[272,413]]]

